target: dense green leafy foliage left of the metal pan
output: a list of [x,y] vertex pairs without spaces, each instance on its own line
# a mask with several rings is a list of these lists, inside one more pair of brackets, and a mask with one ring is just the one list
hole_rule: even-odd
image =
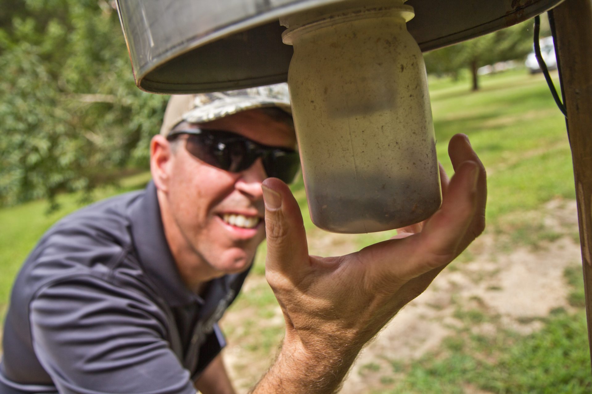
[[88,195],[121,168],[146,168],[166,96],[134,86],[117,12],[13,2],[11,19],[0,14],[0,204],[54,204],[58,191]]

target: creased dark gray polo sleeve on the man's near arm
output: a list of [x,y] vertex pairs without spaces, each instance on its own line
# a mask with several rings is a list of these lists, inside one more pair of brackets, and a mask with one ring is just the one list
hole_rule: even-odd
[[30,304],[33,348],[62,394],[194,394],[146,295],[94,276],[44,288]]

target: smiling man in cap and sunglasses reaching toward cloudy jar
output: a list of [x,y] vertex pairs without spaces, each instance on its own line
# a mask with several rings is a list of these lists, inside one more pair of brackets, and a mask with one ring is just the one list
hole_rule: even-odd
[[173,97],[146,190],[40,240],[14,285],[0,393],[233,393],[216,322],[265,233],[286,334],[253,392],[334,392],[363,344],[482,231],[485,173],[458,135],[432,218],[358,253],[309,256],[276,89]]

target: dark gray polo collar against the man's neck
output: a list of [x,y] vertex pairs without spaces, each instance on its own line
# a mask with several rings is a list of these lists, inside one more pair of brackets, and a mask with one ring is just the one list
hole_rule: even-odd
[[201,304],[202,299],[185,286],[170,253],[153,181],[147,185],[143,198],[131,206],[130,220],[140,264],[165,301],[172,307],[192,302]]

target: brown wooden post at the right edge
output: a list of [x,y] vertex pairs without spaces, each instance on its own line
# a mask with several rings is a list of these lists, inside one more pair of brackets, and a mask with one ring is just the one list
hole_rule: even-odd
[[565,0],[553,16],[574,163],[592,358],[592,0]]

